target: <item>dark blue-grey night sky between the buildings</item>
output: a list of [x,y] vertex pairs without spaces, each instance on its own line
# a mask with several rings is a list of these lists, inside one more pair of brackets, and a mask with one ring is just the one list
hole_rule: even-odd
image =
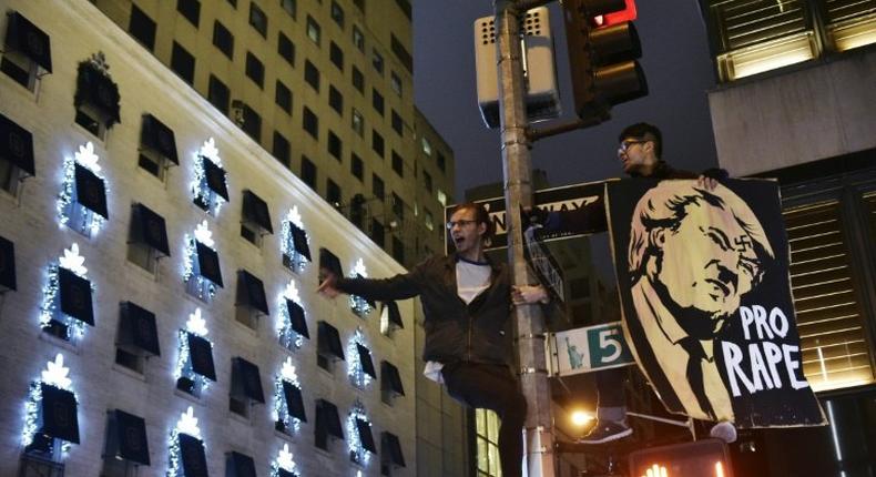
[[[697,3],[639,0],[636,7],[650,94],[615,106],[598,126],[538,141],[532,168],[546,170],[551,186],[620,176],[618,133],[639,121],[661,128],[663,158],[674,166],[716,165],[706,101],[715,79]],[[549,9],[562,119],[569,120],[574,113],[562,16],[558,3]],[[420,0],[414,8],[416,103],[455,151],[457,201],[468,187],[502,179],[499,132],[485,126],[476,92],[472,26],[490,14],[488,0]]]

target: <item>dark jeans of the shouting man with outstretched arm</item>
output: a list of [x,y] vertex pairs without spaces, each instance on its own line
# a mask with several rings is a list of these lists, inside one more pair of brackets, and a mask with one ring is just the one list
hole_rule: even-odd
[[505,477],[521,475],[522,429],[527,400],[508,366],[480,363],[451,363],[441,369],[447,393],[469,406],[495,410],[501,419],[499,460]]

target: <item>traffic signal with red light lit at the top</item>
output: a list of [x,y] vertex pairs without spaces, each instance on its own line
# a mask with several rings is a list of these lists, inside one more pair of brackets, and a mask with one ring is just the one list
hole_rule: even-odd
[[574,106],[582,119],[607,116],[612,105],[648,94],[633,23],[597,22],[631,8],[629,0],[563,0]]

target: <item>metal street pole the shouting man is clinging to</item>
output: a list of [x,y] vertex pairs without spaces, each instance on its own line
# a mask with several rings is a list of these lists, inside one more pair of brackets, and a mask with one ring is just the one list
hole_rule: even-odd
[[[499,59],[499,113],[502,134],[502,169],[508,223],[508,261],[512,283],[527,285],[530,276],[523,257],[521,206],[532,205],[532,185],[527,130],[529,122],[523,100],[520,16],[513,0],[495,0],[497,58]],[[553,434],[551,399],[544,356],[544,321],[538,305],[515,307],[520,357],[520,384],[527,398],[526,453],[529,477],[553,477]]]

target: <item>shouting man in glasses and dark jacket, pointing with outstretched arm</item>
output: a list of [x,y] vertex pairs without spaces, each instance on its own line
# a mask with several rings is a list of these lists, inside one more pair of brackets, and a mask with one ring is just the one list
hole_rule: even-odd
[[426,329],[424,374],[444,384],[464,405],[499,415],[502,475],[520,476],[527,402],[509,367],[513,349],[510,307],[512,303],[547,303],[548,294],[540,285],[511,287],[507,267],[486,257],[493,224],[482,205],[458,205],[447,229],[456,253],[434,256],[385,280],[345,278],[323,271],[326,278],[318,292],[329,298],[347,293],[381,302],[419,296]]

